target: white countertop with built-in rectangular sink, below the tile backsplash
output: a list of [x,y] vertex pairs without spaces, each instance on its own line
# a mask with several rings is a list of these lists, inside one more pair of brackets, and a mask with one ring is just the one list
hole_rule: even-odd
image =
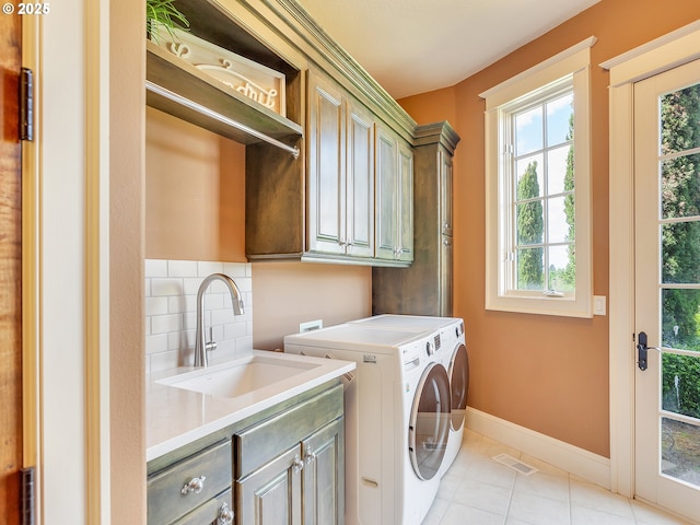
[[350,361],[254,349],[207,369],[156,372],[147,383],[145,460],[340,378],[355,366]]

